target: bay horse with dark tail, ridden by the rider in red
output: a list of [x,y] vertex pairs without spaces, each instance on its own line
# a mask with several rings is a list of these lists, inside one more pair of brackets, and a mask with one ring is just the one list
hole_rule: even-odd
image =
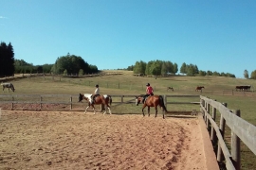
[[[136,105],[138,105],[140,102],[143,101],[143,95],[136,96]],[[142,113],[144,114],[144,109],[148,107],[148,114],[150,116],[150,107],[155,107],[155,117],[157,116],[157,106],[159,106],[163,110],[163,119],[164,117],[164,111],[167,112],[166,107],[164,105],[164,100],[162,95],[150,95],[146,98],[146,100],[143,103],[142,107]]]

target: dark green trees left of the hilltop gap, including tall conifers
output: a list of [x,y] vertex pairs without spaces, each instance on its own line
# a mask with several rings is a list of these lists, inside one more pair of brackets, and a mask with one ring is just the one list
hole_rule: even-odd
[[84,75],[98,73],[96,65],[88,64],[82,57],[70,55],[59,57],[54,64],[33,65],[24,59],[15,59],[11,43],[0,43],[0,77],[14,74]]

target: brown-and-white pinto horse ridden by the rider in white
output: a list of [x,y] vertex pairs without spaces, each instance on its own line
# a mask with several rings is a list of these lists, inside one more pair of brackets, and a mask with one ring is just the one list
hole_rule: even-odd
[[96,113],[95,111],[95,107],[94,105],[105,105],[105,111],[103,112],[103,114],[106,113],[107,109],[109,110],[109,113],[111,114],[111,110],[110,110],[110,106],[112,103],[112,98],[110,95],[105,94],[105,95],[98,95],[95,97],[95,101],[92,103],[92,98],[91,98],[92,94],[91,93],[80,93],[79,94],[79,102],[82,101],[82,99],[88,101],[88,106],[86,107],[84,113],[86,113],[87,109],[92,106],[94,114]]

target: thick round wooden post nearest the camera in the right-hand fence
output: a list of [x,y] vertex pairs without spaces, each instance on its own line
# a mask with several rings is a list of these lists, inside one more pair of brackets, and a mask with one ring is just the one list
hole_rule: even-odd
[[[240,117],[240,110],[233,110],[233,113]],[[236,170],[241,169],[240,139],[231,131],[231,156]]]

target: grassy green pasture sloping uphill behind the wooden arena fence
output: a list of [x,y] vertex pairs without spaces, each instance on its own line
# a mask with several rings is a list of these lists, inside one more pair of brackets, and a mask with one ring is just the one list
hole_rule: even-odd
[[[111,71],[108,71],[111,73]],[[95,84],[100,85],[101,94],[129,94],[145,93],[146,83],[151,83],[155,94],[196,94],[208,96],[221,103],[228,103],[229,110],[241,110],[241,117],[252,125],[256,125],[255,92],[235,92],[237,85],[251,85],[256,90],[256,80],[216,76],[167,76],[147,77],[133,76],[129,71],[112,71],[116,75],[92,77],[60,77],[60,76],[33,76],[14,79],[15,94],[70,94],[93,93]],[[195,92],[196,86],[204,86],[202,93]],[[167,91],[167,87],[174,87]],[[254,89],[255,87],[255,89]],[[234,93],[232,94],[232,90]],[[226,93],[223,93],[225,91]],[[1,92],[1,94],[13,94]],[[198,98],[174,97],[168,101],[199,101]],[[198,105],[168,105],[168,110],[199,110]],[[114,109],[113,109],[114,110]],[[114,112],[141,113],[141,107],[132,104],[121,105]],[[153,114],[154,112],[151,111]],[[230,133],[227,130],[226,140],[229,143]],[[256,169],[256,156],[242,143],[242,169]]]

